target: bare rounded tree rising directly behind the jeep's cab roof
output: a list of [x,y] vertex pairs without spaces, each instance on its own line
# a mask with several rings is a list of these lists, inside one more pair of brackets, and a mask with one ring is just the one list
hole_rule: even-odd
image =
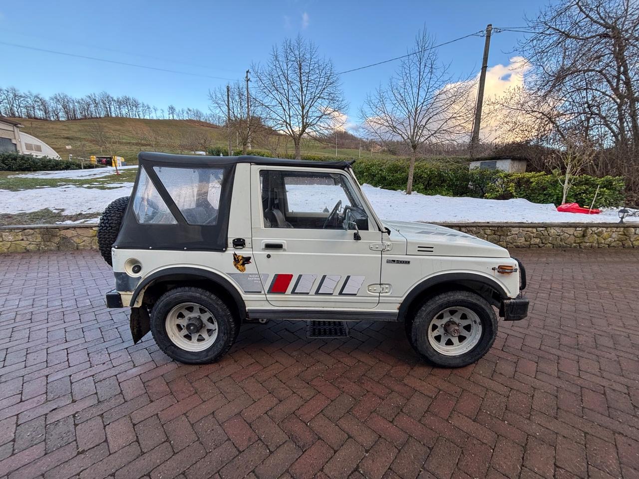
[[295,158],[302,158],[301,140],[308,133],[341,128],[347,103],[330,59],[301,36],[273,47],[265,65],[253,64],[264,123],[291,137]]

